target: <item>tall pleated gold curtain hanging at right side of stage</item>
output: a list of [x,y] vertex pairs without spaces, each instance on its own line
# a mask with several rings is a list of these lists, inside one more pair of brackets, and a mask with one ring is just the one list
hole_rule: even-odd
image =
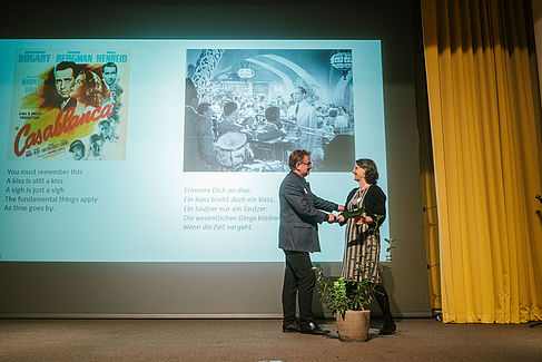
[[542,134],[529,16],[526,0],[422,0],[443,322],[542,320]]

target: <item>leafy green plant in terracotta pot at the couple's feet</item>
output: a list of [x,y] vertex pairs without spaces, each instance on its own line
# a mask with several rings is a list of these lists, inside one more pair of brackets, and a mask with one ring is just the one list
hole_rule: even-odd
[[[391,261],[393,238],[385,242],[388,243],[386,260]],[[358,275],[364,275],[363,270],[367,266],[358,263]],[[333,278],[325,276],[319,267],[314,268],[322,304],[335,314],[341,341],[366,341],[371,321],[368,306],[377,293],[375,284],[368,278]]]

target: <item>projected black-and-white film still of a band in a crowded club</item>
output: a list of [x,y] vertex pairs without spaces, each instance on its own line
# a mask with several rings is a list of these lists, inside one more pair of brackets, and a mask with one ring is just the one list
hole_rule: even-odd
[[349,172],[355,159],[351,50],[188,49],[185,172]]

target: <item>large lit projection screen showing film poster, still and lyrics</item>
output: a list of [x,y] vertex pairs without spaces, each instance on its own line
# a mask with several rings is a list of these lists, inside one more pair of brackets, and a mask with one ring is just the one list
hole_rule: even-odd
[[[312,153],[323,198],[344,204],[361,157],[387,194],[380,40],[0,50],[0,261],[282,262],[278,187],[295,148]],[[343,234],[321,225],[313,260],[339,262]]]

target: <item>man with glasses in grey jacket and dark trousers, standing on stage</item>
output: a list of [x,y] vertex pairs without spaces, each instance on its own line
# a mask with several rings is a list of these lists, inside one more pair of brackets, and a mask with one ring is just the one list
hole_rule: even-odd
[[[333,211],[343,205],[325,200],[311,192],[305,177],[311,173],[311,153],[295,149],[289,155],[290,172],[280,184],[280,225],[278,247],[286,255],[283,285],[283,332],[325,334],[313,319],[315,273],[308,253],[319,252],[318,224],[335,222]],[[322,211],[326,211],[326,214]],[[296,296],[299,301],[299,320],[296,319]]]

